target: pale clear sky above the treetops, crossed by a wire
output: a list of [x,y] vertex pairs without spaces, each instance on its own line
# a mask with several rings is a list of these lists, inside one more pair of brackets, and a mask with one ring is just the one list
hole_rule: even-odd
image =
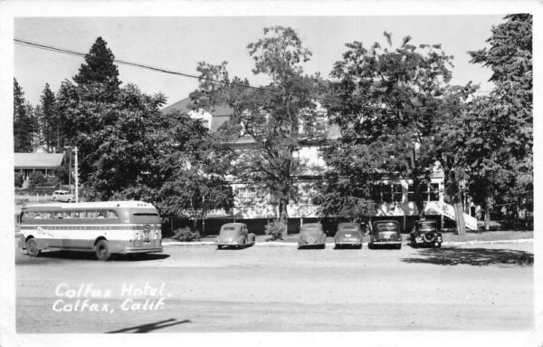
[[[88,53],[101,36],[119,60],[141,63],[176,72],[197,74],[198,62],[228,62],[230,76],[248,78],[253,85],[265,84],[252,73],[247,44],[262,37],[271,25],[293,27],[302,43],[313,53],[304,72],[320,72],[325,78],[333,63],[341,59],[345,43],[360,41],[370,46],[386,43],[383,33],[393,34],[393,43],[406,35],[412,43],[442,43],[453,55],[452,84],[474,82],[481,91],[491,89],[491,72],[469,63],[468,51],[487,45],[493,25],[503,15],[417,15],[417,16],[176,16],[176,17],[16,17],[14,37]],[[40,102],[45,83],[57,92],[61,82],[77,74],[83,58],[14,44],[14,77],[24,97]],[[197,81],[167,73],[152,72],[119,64],[119,78],[135,83],[142,92],[162,92],[167,104],[184,99],[197,88]]]

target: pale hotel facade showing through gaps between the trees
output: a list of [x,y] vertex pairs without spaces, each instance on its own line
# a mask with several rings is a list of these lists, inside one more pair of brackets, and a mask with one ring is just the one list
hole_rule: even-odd
[[[188,98],[176,102],[163,111],[166,113],[170,111],[186,112],[194,119],[202,121],[202,124],[210,131],[218,130],[225,121],[230,120],[233,114],[233,110],[228,107],[219,107],[210,111],[194,111],[190,108]],[[340,135],[338,128],[329,126],[324,111],[322,113],[322,116],[317,118],[315,129],[323,132],[328,139],[337,139]],[[236,151],[244,151],[254,149],[255,144],[252,138],[243,136],[230,145]],[[326,163],[322,158],[319,144],[308,143],[300,147],[294,155],[309,163],[309,166],[326,169]],[[290,233],[299,232],[303,223],[319,220],[325,225],[326,229],[327,227],[334,228],[338,222],[348,219],[348,216],[332,218],[321,218],[319,216],[319,207],[312,204],[312,198],[315,195],[313,187],[315,180],[308,173],[300,177],[295,183],[296,192],[287,207]],[[210,211],[198,221],[199,227],[204,229],[205,234],[215,234],[223,223],[242,221],[250,226],[252,232],[262,234],[264,226],[280,216],[279,202],[272,198],[271,192],[267,191],[262,185],[239,181],[235,178],[231,179],[231,184],[235,197],[235,207],[231,213],[225,213],[224,210]],[[439,163],[436,163],[431,175],[431,182],[424,193],[424,200],[426,201],[424,213],[427,217],[438,220],[442,226],[444,223],[443,217],[451,217],[451,214],[444,213],[443,209],[449,212],[452,210],[452,207],[443,202],[443,191],[443,170],[440,168]],[[414,186],[410,179],[383,178],[374,186],[372,198],[376,201],[376,207],[367,216],[368,221],[374,218],[395,219],[400,222],[400,225],[406,231],[418,219],[419,211],[414,203]],[[472,222],[472,220],[470,221]]]

